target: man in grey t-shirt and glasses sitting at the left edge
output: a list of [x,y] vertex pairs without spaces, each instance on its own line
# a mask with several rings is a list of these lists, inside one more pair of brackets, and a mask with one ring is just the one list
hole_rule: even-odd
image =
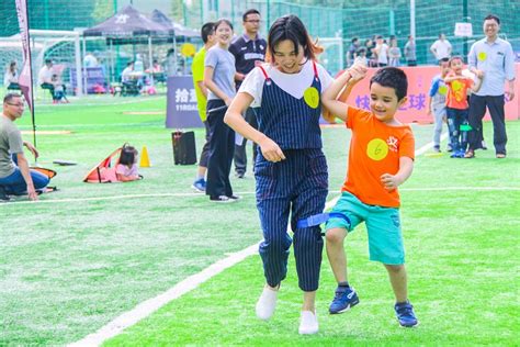
[[[31,150],[35,158],[36,148],[22,139],[20,130],[14,121],[23,113],[22,97],[9,93],[3,98],[3,111],[0,114],[0,201],[9,201],[9,194],[21,195],[25,192],[30,200],[37,200],[36,190],[47,187],[47,176],[29,169],[29,163],[23,154],[23,146]],[[16,164],[13,163],[12,157]]]

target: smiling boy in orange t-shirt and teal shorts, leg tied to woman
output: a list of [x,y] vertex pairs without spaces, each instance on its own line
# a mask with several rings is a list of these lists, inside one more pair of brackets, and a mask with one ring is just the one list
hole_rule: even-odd
[[[363,79],[366,68],[354,64],[325,91],[323,103],[352,131],[349,167],[340,200],[326,224],[327,255],[338,282],[329,306],[331,314],[342,313],[359,303],[347,281],[343,240],[357,225],[365,222],[370,259],[381,261],[389,276],[396,303],[395,314],[402,326],[418,324],[408,301],[397,187],[414,168],[415,139],[409,125],[395,119],[407,102],[408,81],[396,67],[380,69],[370,80],[370,111],[348,105],[352,87]],[[336,96],[346,90],[336,100]],[[331,213],[331,214],[332,214]]]

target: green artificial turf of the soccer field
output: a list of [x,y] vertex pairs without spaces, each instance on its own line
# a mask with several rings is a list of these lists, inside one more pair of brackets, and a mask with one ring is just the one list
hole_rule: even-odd
[[[231,178],[244,198],[237,203],[214,204],[192,192],[196,167],[173,165],[165,109],[162,97],[86,98],[37,109],[39,131],[67,132],[37,138],[38,164],[58,171],[52,184],[60,190],[36,203],[20,198],[0,204],[0,345],[81,340],[261,239],[252,176]],[[19,125],[30,130],[30,123],[27,112]],[[350,282],[361,302],[341,315],[327,313],[336,284],[324,254],[317,335],[297,334],[302,294],[292,256],[273,318],[256,318],[263,275],[255,253],[105,344],[517,345],[520,122],[508,122],[507,130],[507,159],[495,158],[493,126],[486,123],[489,150],[475,159],[431,157],[427,150],[400,188],[419,327],[399,328],[386,271],[368,260],[362,226],[346,243]],[[431,125],[414,125],[414,132],[417,149],[430,143]],[[344,178],[350,134],[342,126],[324,127],[323,134],[332,201]],[[200,153],[202,130],[196,138]],[[140,169],[144,180],[81,182],[125,142],[148,149],[152,166]],[[78,165],[56,167],[56,159]]]

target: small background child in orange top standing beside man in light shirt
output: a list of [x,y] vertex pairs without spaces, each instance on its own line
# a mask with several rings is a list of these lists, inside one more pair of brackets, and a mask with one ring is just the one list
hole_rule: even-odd
[[450,59],[451,72],[444,78],[448,86],[446,117],[450,131],[450,143],[453,148],[452,158],[464,158],[467,147],[467,132],[470,131],[470,104],[467,91],[477,92],[482,86],[482,78],[476,82],[472,77],[462,75],[464,63],[462,57],[454,56]]

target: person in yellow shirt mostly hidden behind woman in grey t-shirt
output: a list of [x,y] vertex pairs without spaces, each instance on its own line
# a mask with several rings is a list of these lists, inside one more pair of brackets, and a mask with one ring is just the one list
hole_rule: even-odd
[[201,37],[204,46],[193,57],[191,65],[193,74],[193,86],[195,86],[196,107],[199,109],[199,116],[201,117],[204,128],[206,130],[204,146],[202,147],[201,158],[199,159],[199,168],[196,170],[195,181],[191,186],[199,192],[206,191],[206,171],[207,160],[210,158],[210,124],[207,124],[206,105],[207,105],[207,88],[204,86],[204,59],[206,52],[215,44],[215,23],[208,22],[202,25]]

